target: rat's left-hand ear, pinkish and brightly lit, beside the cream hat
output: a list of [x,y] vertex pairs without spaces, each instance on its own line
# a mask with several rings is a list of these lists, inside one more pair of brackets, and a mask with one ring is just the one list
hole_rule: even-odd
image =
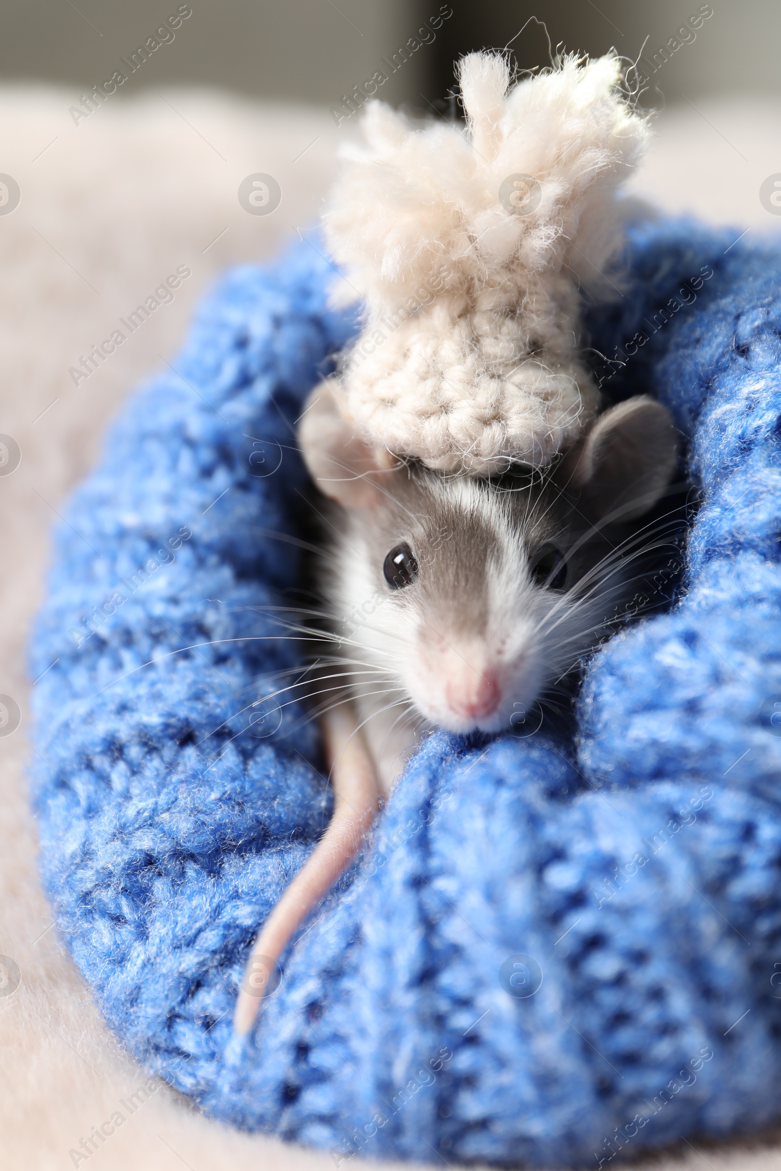
[[313,480],[345,508],[371,508],[382,500],[377,478],[393,466],[370,447],[341,413],[333,386],[315,386],[299,423],[299,444]]

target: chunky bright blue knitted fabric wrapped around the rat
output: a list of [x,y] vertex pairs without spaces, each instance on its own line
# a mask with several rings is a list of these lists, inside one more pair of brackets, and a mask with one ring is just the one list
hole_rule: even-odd
[[[306,713],[248,706],[296,663],[268,608],[300,553],[269,534],[306,522],[294,420],[354,329],[329,266],[303,244],[231,273],[114,427],[33,639],[41,867],[117,1036],[211,1116],[537,1165],[777,1116],[781,249],[732,239],[636,227],[624,296],[590,313],[595,352],[646,337],[604,389],[691,440],[671,610],[592,658],[574,745],[425,742],[245,1041],[248,945],[330,810]],[[500,982],[516,954],[534,995]]]

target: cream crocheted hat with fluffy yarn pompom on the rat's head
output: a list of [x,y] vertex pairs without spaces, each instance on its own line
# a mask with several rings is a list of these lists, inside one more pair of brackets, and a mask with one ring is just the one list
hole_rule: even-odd
[[330,379],[376,450],[487,475],[543,465],[594,417],[580,287],[608,287],[617,189],[645,145],[616,56],[562,57],[511,89],[502,56],[459,67],[466,130],[371,103],[343,150],[326,238],[364,324]]

